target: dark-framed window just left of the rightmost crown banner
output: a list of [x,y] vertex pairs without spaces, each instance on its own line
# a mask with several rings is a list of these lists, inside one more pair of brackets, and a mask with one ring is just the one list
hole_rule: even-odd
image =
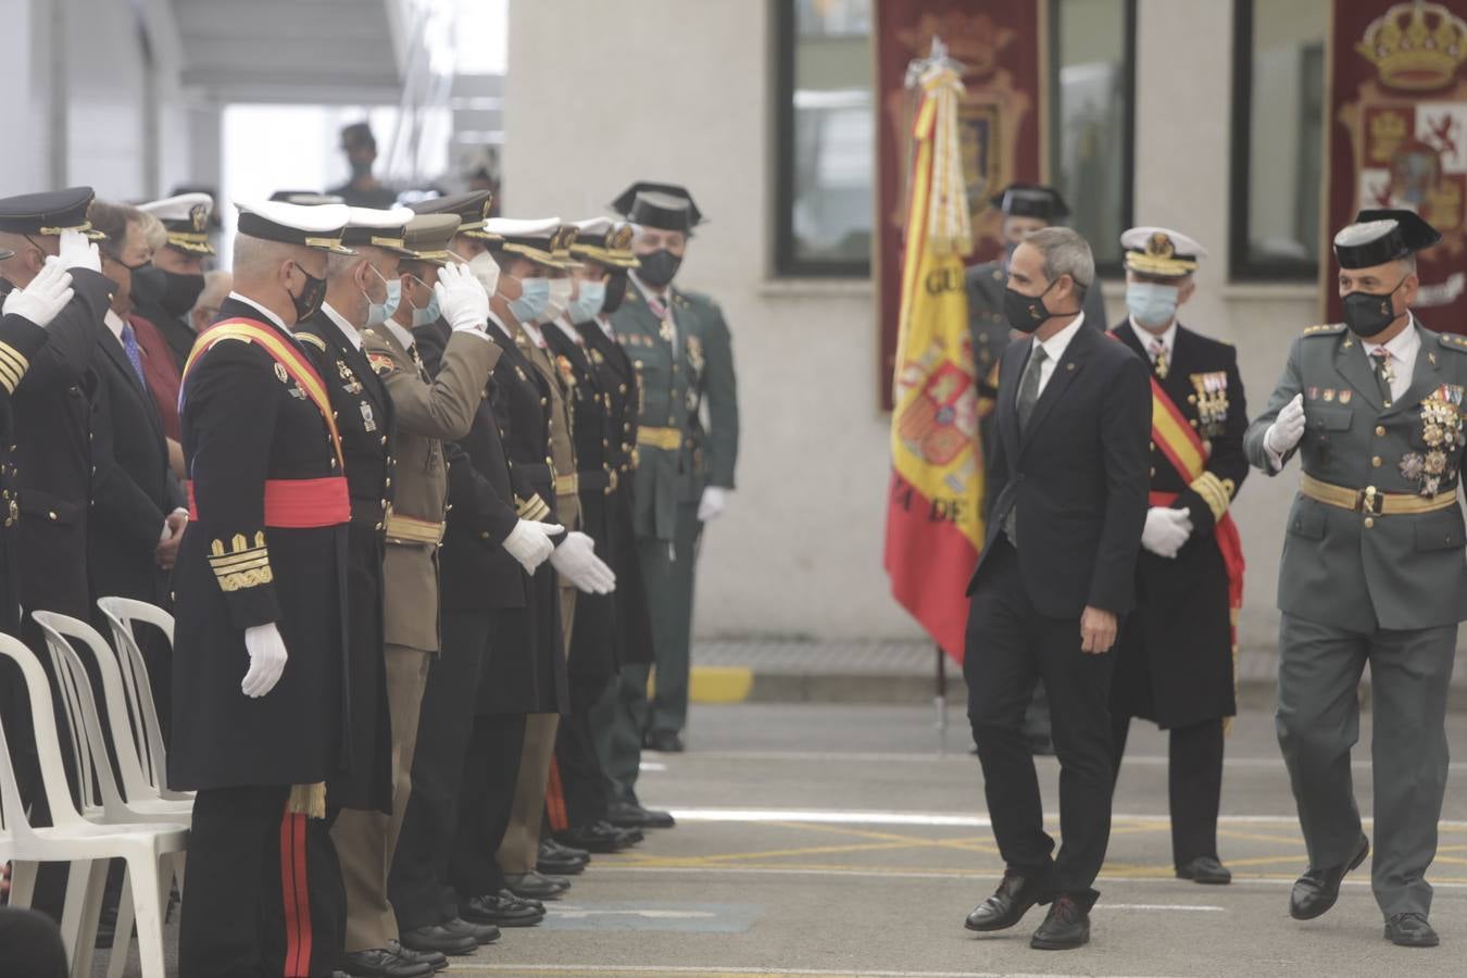
[[1234,0],[1229,271],[1314,282],[1325,157],[1329,0]]

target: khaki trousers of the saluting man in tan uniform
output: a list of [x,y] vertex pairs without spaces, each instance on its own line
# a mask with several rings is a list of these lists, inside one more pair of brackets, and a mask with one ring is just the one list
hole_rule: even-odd
[[428,685],[430,652],[387,645],[387,711],[392,717],[392,815],[342,809],[332,840],[346,887],[346,952],[386,947],[398,940],[398,916],[387,900],[387,871],[412,795],[412,754],[418,713]]

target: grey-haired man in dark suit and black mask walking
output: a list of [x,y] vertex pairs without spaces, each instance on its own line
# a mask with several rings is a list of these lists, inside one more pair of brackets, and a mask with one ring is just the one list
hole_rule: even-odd
[[[1111,692],[1119,619],[1135,604],[1152,419],[1146,364],[1084,327],[1090,246],[1046,227],[1014,251],[1003,298],[993,509],[968,584],[964,676],[993,834],[1006,869],[967,927],[1012,927],[1052,903],[1030,944],[1090,940],[1111,836]],[[1064,845],[1045,833],[1024,708],[1043,677],[1059,755]]]

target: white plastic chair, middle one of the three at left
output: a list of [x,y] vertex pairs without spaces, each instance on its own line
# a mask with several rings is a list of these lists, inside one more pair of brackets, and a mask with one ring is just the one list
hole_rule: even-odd
[[[173,821],[180,826],[192,824],[194,801],[164,799],[158,795],[144,774],[141,761],[133,749],[133,730],[128,726],[129,702],[123,691],[123,674],[114,661],[113,650],[87,622],[56,614],[54,611],[37,611],[32,619],[41,626],[45,636],[45,647],[51,654],[54,672],[62,688],[62,704],[70,718],[72,745],[76,751],[78,767],[84,773],[79,777],[82,796],[82,817],[98,824],[148,824],[157,821]],[[91,679],[88,677],[82,654],[89,658],[101,677],[103,702],[107,704],[107,721],[111,730],[111,758],[117,761],[117,773],[122,776],[122,790],[113,777],[111,761],[109,758],[107,740],[103,736],[101,716],[97,711],[97,701],[92,695]],[[82,749],[85,746],[87,749]],[[95,789],[95,790],[94,790]],[[100,795],[100,798],[95,798]],[[100,802],[100,804],[98,804]],[[182,889],[183,862],[179,856],[172,874],[164,883],[172,883],[173,875],[179,877]],[[106,889],[106,872],[97,872],[88,881],[97,890],[95,909],[101,911],[101,897]],[[91,974],[91,957],[94,940],[88,940],[95,933],[95,918],[91,915],[92,900],[87,903],[88,915],[82,918],[81,943],[76,952],[76,969],[81,975]],[[111,956],[109,959],[109,978],[120,978],[128,957],[128,947],[132,943],[132,924],[135,908],[128,890],[123,890],[117,903],[117,927],[113,937]]]

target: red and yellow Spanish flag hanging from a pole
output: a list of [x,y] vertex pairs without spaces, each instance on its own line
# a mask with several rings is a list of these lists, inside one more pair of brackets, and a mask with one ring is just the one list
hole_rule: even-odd
[[962,82],[918,81],[892,411],[886,572],[892,594],[956,661],[964,589],[983,545],[983,457],[962,257],[973,248],[958,136]]

